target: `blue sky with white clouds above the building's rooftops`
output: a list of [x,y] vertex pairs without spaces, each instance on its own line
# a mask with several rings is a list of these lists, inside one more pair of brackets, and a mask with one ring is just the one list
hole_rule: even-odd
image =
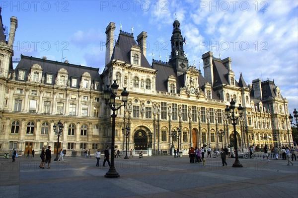
[[[147,59],[165,61],[170,54],[172,23],[180,21],[186,36],[184,50],[197,68],[202,54],[231,57],[236,79],[274,80],[298,108],[298,1],[297,0],[1,0],[3,24],[18,18],[14,57],[20,54],[104,68],[105,28],[116,23],[135,39],[146,31]],[[63,56],[62,56],[63,50]],[[203,64],[201,64],[203,65]],[[203,68],[201,68],[203,71]]]

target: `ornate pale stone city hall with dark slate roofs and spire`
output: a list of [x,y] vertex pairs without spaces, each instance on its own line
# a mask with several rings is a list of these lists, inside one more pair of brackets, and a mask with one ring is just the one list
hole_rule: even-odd
[[[1,18],[0,18],[1,19]],[[105,105],[103,89],[117,80],[119,92],[127,87],[128,105],[117,111],[115,145],[125,149],[123,127],[130,126],[129,148],[169,151],[171,146],[188,150],[203,144],[220,148],[218,135],[224,131],[224,146],[234,142],[233,126],[224,115],[234,99],[244,115],[237,120],[241,148],[291,144],[288,102],[274,81],[260,79],[246,85],[242,74],[236,81],[231,58],[202,55],[204,76],[189,65],[183,48],[180,23],[175,20],[169,60],[146,58],[147,33],[137,42],[133,33],[122,30],[115,40],[115,23],[106,27],[105,68],[74,65],[21,55],[13,69],[13,39],[16,17],[11,17],[9,40],[0,24],[0,148],[39,151],[57,148],[53,125],[64,124],[61,144],[68,152],[103,149],[111,142],[111,110]],[[150,63],[150,62],[151,63]],[[101,66],[99,66],[101,67]],[[122,104],[116,98],[117,105]],[[172,131],[181,130],[180,137]]]

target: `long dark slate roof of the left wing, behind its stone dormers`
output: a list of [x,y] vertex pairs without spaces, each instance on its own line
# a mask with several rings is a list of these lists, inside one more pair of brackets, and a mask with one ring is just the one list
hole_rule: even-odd
[[[98,73],[99,68],[85,67],[85,66],[81,66],[81,65],[74,65],[74,64],[70,64],[70,63],[62,63],[62,62],[58,62],[58,61],[51,61],[51,60],[45,60],[45,59],[21,55],[21,60],[15,68],[15,74],[16,75],[18,74],[17,72],[19,69],[25,70],[26,71],[25,80],[27,80],[27,74],[30,73],[30,68],[34,64],[41,65],[41,67],[43,69],[42,76],[44,76],[46,73],[51,73],[51,74],[53,74],[53,79],[56,79],[57,72],[61,68],[65,68],[69,73],[68,74],[69,79],[71,77],[77,77],[77,81],[78,81],[77,85],[80,84],[81,75],[84,72],[88,72],[91,75],[92,83],[94,83],[94,81],[99,82],[100,83],[99,91],[102,91],[103,83],[102,83],[102,80]],[[53,84],[54,83],[55,82],[53,81]]]

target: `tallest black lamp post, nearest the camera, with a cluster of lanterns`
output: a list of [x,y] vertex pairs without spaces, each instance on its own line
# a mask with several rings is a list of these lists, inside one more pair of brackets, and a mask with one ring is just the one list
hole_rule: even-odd
[[115,111],[120,109],[121,106],[126,106],[128,95],[129,93],[126,91],[126,88],[123,88],[123,91],[121,93],[123,104],[120,106],[116,106],[116,95],[119,85],[116,83],[117,80],[114,80],[114,83],[111,85],[111,88],[109,88],[109,85],[107,85],[106,89],[103,91],[105,103],[107,106],[110,107],[110,109],[113,111],[113,114],[111,114],[112,117],[112,139],[111,139],[111,166],[109,168],[109,171],[105,174],[104,177],[106,178],[119,178],[119,174],[117,173],[115,169],[115,118],[117,117],[117,114],[115,114]]

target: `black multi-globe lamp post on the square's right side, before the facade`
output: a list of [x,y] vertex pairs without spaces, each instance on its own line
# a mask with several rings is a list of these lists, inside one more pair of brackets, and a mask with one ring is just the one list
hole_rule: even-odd
[[[239,104],[238,112],[235,111],[235,101],[234,99],[231,99],[230,101],[230,106],[226,105],[226,108],[224,109],[225,115],[232,120],[232,124],[234,127],[234,146],[235,146],[235,162],[232,167],[243,167],[242,164],[239,162],[239,157],[238,157],[238,143],[237,143],[237,133],[236,133],[236,120],[239,117],[242,117],[243,115],[243,107],[241,104]],[[238,114],[238,115],[236,115]]]

